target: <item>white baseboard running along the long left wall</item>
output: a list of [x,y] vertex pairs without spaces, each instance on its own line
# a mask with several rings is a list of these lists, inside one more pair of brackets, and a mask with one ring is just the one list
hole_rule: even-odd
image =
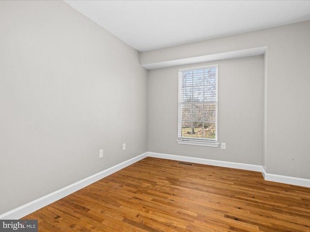
[[30,203],[24,204],[20,207],[17,207],[16,209],[13,209],[9,212],[6,212],[2,215],[0,215],[0,219],[19,219],[21,217],[25,217],[26,215],[31,214],[32,212],[41,209],[44,206],[47,206],[50,203],[56,202],[60,199],[62,199],[65,196],[68,196],[71,193],[74,193],[78,191],[81,188],[84,188],[90,184],[93,184],[94,182],[110,175],[113,174],[139,160],[142,160],[147,157],[147,152],[144,154],[141,154],[140,156],[136,156],[130,160],[126,160],[120,164],[117,164],[113,167],[110,167],[100,173],[94,174],[92,176],[89,176],[85,179],[82,179],[72,185],[69,185],[67,187],[64,187],[62,189],[59,189],[55,192],[52,192],[44,197],[41,197],[37,200],[34,200]]

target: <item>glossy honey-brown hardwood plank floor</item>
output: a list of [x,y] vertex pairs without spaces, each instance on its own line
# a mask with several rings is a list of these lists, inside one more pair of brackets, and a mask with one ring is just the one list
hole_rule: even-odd
[[48,232],[310,232],[310,188],[146,158],[22,219]]

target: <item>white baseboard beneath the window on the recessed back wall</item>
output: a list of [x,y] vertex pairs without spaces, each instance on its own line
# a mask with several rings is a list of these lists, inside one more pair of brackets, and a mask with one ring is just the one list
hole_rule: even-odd
[[245,163],[234,163],[227,161],[219,161],[219,160],[207,160],[201,158],[187,157],[187,156],[176,156],[176,155],[168,155],[162,153],[148,152],[148,157],[161,158],[167,160],[178,160],[184,162],[192,162],[192,163],[200,163],[207,164],[225,168],[236,168],[248,171],[262,172],[262,166],[254,165],[254,164],[245,164]]

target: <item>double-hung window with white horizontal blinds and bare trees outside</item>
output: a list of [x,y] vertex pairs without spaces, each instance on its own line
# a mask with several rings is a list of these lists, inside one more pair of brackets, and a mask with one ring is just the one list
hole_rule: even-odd
[[179,70],[178,143],[182,141],[217,142],[217,65]]

